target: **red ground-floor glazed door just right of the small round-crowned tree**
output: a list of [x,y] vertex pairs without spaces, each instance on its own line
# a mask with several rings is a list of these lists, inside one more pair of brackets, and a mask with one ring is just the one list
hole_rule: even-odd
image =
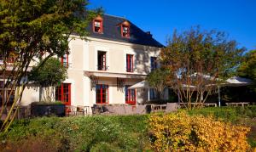
[[71,84],[61,83],[61,86],[55,87],[55,100],[63,104],[71,105]]

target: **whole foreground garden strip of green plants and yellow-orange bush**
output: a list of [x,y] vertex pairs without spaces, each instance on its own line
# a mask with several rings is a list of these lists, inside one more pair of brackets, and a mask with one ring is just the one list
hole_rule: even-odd
[[256,147],[256,106],[24,119],[0,140],[2,151],[246,151]]

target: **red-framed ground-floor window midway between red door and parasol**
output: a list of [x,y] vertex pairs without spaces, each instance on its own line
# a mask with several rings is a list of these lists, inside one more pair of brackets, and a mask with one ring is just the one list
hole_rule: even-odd
[[108,85],[96,85],[96,104],[108,104]]

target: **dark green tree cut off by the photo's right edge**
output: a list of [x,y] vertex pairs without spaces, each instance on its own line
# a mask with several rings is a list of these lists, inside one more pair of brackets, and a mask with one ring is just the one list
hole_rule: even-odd
[[238,75],[253,80],[253,90],[256,92],[256,50],[246,53],[238,68]]

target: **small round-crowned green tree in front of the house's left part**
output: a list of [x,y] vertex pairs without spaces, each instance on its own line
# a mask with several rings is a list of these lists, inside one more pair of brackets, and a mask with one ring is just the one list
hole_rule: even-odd
[[49,58],[44,65],[41,64],[42,61],[32,68],[28,80],[39,84],[43,88],[43,93],[40,91],[40,100],[42,94],[44,94],[44,101],[51,102],[53,100],[54,87],[67,78],[67,68],[61,65],[61,61],[56,58]]

